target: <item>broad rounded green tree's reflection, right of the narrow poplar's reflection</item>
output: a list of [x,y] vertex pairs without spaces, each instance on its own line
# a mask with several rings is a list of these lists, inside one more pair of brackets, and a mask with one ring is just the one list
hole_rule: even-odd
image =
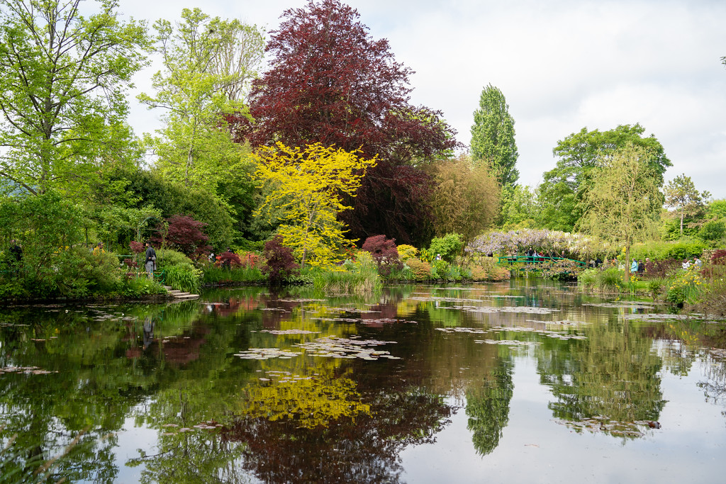
[[587,340],[541,350],[541,379],[558,398],[550,409],[566,422],[598,417],[614,425],[603,424],[600,430],[640,435],[627,422],[657,420],[665,404],[658,377],[661,358],[651,351],[652,340],[628,324],[598,324],[585,334]]

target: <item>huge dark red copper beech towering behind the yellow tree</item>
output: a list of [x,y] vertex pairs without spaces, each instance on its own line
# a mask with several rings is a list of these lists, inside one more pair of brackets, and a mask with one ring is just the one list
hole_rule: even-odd
[[428,226],[431,178],[420,166],[449,155],[454,131],[439,111],[409,104],[412,70],[386,39],[371,38],[355,9],[338,0],[288,9],[266,46],[269,70],[253,83],[250,123],[230,117],[253,147],[325,147],[378,158],[342,214],[351,235],[420,239]]

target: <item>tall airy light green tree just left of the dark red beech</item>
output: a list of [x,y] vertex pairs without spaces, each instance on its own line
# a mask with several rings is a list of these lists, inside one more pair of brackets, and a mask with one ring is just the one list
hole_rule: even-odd
[[198,8],[183,9],[176,25],[158,20],[154,28],[163,70],[152,79],[155,96],[139,100],[164,108],[166,126],[147,144],[164,176],[216,192],[219,181],[247,163],[226,116],[245,112],[242,96],[257,76],[264,38],[256,26],[211,18]]

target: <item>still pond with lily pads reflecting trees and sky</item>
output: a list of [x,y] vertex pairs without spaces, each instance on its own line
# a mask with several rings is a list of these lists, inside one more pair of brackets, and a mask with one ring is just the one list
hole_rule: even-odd
[[25,482],[60,456],[51,477],[94,483],[718,480],[726,351],[690,324],[526,279],[3,308],[0,470]]

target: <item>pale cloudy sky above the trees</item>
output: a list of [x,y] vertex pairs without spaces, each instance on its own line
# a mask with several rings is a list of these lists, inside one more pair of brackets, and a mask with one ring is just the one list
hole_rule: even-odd
[[[303,0],[120,0],[137,19],[179,19],[184,7],[274,30]],[[536,186],[568,134],[640,123],[696,188],[726,198],[726,1],[350,0],[373,38],[416,71],[412,104],[441,110],[470,143],[489,83],[515,120],[520,183]],[[268,36],[269,38],[269,36]],[[139,87],[151,71],[137,77]],[[147,86],[145,89],[149,89]],[[136,131],[155,112],[134,108]]]

